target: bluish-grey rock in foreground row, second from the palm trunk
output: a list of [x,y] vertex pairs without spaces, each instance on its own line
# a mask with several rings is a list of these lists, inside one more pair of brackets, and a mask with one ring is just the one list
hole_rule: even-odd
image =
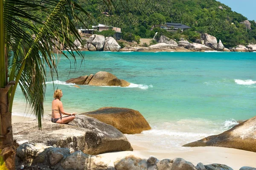
[[70,154],[70,150],[68,148],[60,148],[60,147],[51,148],[47,153],[47,155],[49,156],[50,165],[57,164],[59,161],[61,161],[61,159],[65,155],[69,155],[69,154]]

